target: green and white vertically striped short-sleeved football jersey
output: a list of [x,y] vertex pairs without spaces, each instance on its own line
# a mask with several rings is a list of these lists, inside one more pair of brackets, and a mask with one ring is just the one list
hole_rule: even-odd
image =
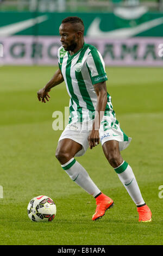
[[[77,123],[95,118],[97,95],[93,84],[108,80],[101,53],[95,46],[85,44],[72,56],[61,46],[58,50],[59,68],[64,77],[68,95],[70,96],[69,123]],[[114,115],[111,96],[105,115]]]

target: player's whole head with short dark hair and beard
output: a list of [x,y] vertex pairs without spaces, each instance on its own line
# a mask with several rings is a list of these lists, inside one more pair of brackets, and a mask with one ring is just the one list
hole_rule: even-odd
[[84,23],[76,16],[67,17],[62,20],[59,27],[62,46],[66,51],[73,51],[84,36]]

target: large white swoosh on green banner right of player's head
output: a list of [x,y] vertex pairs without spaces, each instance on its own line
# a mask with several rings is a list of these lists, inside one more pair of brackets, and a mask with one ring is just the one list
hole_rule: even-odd
[[148,29],[154,28],[156,26],[159,26],[163,23],[163,17],[160,17],[158,19],[154,19],[152,21],[146,21],[141,23],[140,25],[137,25],[133,28],[120,28],[115,29],[114,31],[108,31],[104,32],[99,28],[99,25],[101,23],[101,19],[96,17],[95,20],[92,21],[90,27],[87,29],[87,36],[96,36],[99,38],[130,38],[131,36],[137,35],[139,33],[148,31]]

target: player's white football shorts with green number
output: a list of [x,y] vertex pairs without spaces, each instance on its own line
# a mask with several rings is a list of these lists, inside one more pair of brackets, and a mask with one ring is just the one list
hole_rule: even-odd
[[[70,123],[66,126],[65,130],[62,132],[59,141],[61,139],[72,139],[73,141],[81,144],[83,146],[75,156],[83,156],[89,147],[88,136],[92,130],[93,121],[87,121],[83,123]],[[104,116],[99,128],[99,138],[103,145],[106,141],[118,141],[120,151],[126,149],[131,141],[120,128],[120,123],[116,121],[115,118]]]

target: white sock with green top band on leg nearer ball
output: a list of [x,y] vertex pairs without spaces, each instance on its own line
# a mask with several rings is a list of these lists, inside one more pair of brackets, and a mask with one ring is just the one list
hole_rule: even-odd
[[66,171],[70,178],[76,182],[80,187],[82,187],[87,193],[91,194],[93,197],[97,196],[101,191],[91,180],[89,174],[86,172],[84,167],[78,163],[74,158],[61,167]]

